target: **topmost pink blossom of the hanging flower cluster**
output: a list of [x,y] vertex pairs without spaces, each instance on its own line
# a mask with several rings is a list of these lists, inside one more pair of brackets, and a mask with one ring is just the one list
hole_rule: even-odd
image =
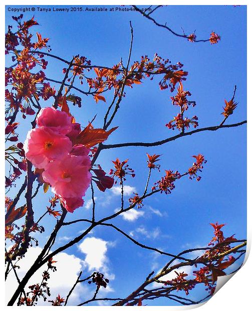
[[72,130],[71,116],[54,107],[42,108],[36,118],[36,123],[40,127],[47,127],[61,134],[67,134]]

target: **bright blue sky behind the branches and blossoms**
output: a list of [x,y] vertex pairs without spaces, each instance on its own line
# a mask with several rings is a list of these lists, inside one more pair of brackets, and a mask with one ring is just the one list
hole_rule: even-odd
[[[14,14],[8,12],[8,7],[10,6],[6,7],[6,25],[13,24],[11,17]],[[126,63],[130,43],[129,21],[132,21],[134,28],[132,62],[139,60],[141,55],[145,54],[151,58],[157,52],[163,58],[169,58],[172,63],[178,61],[183,63],[184,70],[189,72],[184,88],[191,92],[191,100],[196,101],[196,106],[188,110],[188,116],[196,114],[199,118],[199,127],[217,125],[222,121],[220,113],[224,99],[229,100],[232,97],[234,85],[237,85],[235,99],[238,105],[226,123],[246,119],[245,6],[237,8],[167,6],[153,13],[155,19],[162,23],[168,21],[167,25],[177,32],[181,32],[181,27],[187,34],[196,29],[197,39],[206,39],[211,31],[215,31],[221,36],[221,41],[216,45],[192,44],[185,39],[177,38],[166,30],[156,27],[137,12],[40,13],[36,10],[34,15],[40,24],[34,28],[34,32],[38,31],[42,36],[50,38],[53,54],[68,60],[73,55],[80,54],[91,59],[92,64],[104,66],[118,63],[121,57]],[[24,14],[25,19],[30,19],[32,16],[32,13]],[[62,80],[62,68],[65,65],[51,58],[48,58],[48,61],[47,76]],[[10,62],[7,61],[7,65],[9,64]],[[157,78],[153,81],[146,79],[142,85],[126,89],[126,97],[112,124],[112,126],[119,125],[119,128],[111,134],[108,143],[155,141],[176,132],[165,127],[165,124],[177,114],[176,107],[170,101],[170,96],[173,94],[169,90],[160,91],[158,82]],[[81,88],[78,82],[76,86]],[[94,126],[101,127],[112,94],[106,93],[107,103],[98,102],[98,104],[92,97],[83,96],[82,107],[72,106],[71,112],[83,126],[97,113]],[[42,103],[43,106],[51,104],[50,100]],[[28,118],[23,123],[20,131],[21,141],[26,137],[30,121]],[[118,217],[113,221],[115,225],[133,234],[144,244],[174,254],[186,248],[205,246],[212,237],[210,222],[225,223],[225,236],[236,233],[237,238],[245,238],[246,126],[196,133],[160,147],[103,150],[97,163],[109,172],[112,168],[111,160],[115,160],[116,157],[121,160],[129,159],[130,167],[135,170],[136,177],[128,178],[125,184],[131,187],[128,187],[129,191],[134,187],[135,191],[142,193],[148,174],[146,152],[162,154],[161,173],[155,172],[152,175],[152,184],[160,179],[165,169],[185,172],[193,163],[191,156],[194,154],[204,154],[208,162],[204,165],[200,182],[190,181],[187,177],[177,181],[171,195],[158,194],[146,199],[144,207],[137,211],[139,216],[137,219],[129,221]],[[15,189],[11,193],[14,194]],[[46,195],[40,192],[34,200],[37,217],[44,213],[50,195],[50,191]],[[95,196],[98,218],[110,215],[120,206],[120,196],[116,194],[116,190],[114,192],[107,190],[103,194],[95,189]],[[125,198],[125,202],[128,197]],[[86,207],[89,199],[90,192],[84,198]],[[83,207],[76,210],[74,214],[69,214],[67,220],[86,218],[90,215],[91,210]],[[50,233],[49,230],[53,225],[54,219],[48,217],[45,236]],[[74,234],[78,234],[83,229],[85,229],[84,224],[64,228],[59,234],[61,239],[56,243],[56,247],[64,243],[64,239],[66,241],[67,238],[73,238]],[[157,272],[167,260],[148,250],[140,249],[110,228],[97,228],[89,237],[108,242],[105,243],[106,245],[102,244],[105,245],[106,258],[103,258],[100,269],[106,270],[105,272],[110,276],[114,275],[110,283],[114,292],[106,293],[107,296],[126,296],[138,287],[152,269]],[[86,243],[88,241],[86,240]],[[85,245],[84,243],[83,248],[74,246],[66,251],[68,255],[75,255],[76,258],[84,261],[82,262],[83,275],[87,275],[89,273],[87,270],[90,268],[87,254],[83,252]],[[71,287],[71,284],[69,286]],[[84,290],[85,294],[92,297],[93,292],[88,294],[91,286],[82,288],[80,291],[85,289],[87,291]],[[192,296],[201,298],[204,295],[204,288],[200,287],[191,293],[191,298]],[[76,297],[76,301],[78,299]],[[156,304],[173,305],[174,303],[163,299],[148,301],[148,305]]]

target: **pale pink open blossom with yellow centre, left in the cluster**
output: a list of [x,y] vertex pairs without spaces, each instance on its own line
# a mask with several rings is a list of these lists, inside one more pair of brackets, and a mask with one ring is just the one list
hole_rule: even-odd
[[24,143],[26,158],[38,169],[45,169],[51,160],[62,158],[71,149],[67,136],[43,128],[30,130]]

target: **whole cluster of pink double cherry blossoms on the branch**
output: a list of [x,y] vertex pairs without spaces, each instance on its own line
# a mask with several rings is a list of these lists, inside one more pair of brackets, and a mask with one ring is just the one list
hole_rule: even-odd
[[53,107],[41,109],[36,118],[37,128],[30,130],[24,143],[26,158],[43,169],[43,180],[61,199],[63,206],[73,212],[83,206],[91,182],[90,149],[73,144],[81,131],[72,117]]

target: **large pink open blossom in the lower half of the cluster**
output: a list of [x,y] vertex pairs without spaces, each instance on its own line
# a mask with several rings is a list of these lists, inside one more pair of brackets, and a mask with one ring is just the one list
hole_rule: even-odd
[[90,185],[90,166],[88,156],[77,157],[68,154],[61,160],[50,162],[42,177],[45,182],[51,184],[55,194],[63,198],[79,198],[85,196]]

